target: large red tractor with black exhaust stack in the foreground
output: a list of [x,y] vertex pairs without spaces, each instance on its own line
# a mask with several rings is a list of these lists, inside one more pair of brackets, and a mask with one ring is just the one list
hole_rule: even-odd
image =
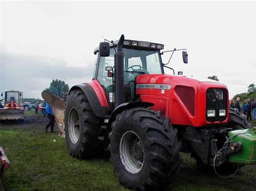
[[[212,166],[229,131],[250,125],[228,107],[224,84],[164,74],[163,48],[123,35],[100,43],[92,81],[73,86],[65,103],[71,155],[93,158],[110,151],[114,172],[133,190],[170,184],[179,172],[180,152]],[[182,54],[187,63],[187,51]],[[225,173],[238,169],[226,160],[231,152],[217,156],[216,168]]]

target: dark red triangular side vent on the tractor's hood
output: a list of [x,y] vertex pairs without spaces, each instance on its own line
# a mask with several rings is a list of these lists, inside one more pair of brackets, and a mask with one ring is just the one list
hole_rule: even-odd
[[192,116],[195,116],[195,90],[188,86],[176,86],[175,92],[188,109]]

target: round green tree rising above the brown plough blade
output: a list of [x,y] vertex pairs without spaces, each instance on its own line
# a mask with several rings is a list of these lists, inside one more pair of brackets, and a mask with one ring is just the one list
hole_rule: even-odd
[[51,92],[53,95],[56,95],[64,99],[64,94],[69,90],[68,84],[60,79],[53,79],[49,88],[46,88],[47,91]]

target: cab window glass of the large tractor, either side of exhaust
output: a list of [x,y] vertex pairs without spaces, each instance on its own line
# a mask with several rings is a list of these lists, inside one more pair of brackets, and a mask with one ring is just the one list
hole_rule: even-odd
[[[134,98],[135,78],[142,74],[163,74],[162,60],[158,50],[135,50],[123,48],[124,53],[124,81],[125,98],[131,101]],[[110,49],[109,57],[100,57],[97,79],[105,88],[108,95],[113,92],[112,77],[108,77],[106,66],[114,67],[114,48]],[[110,99],[112,102],[112,99]]]

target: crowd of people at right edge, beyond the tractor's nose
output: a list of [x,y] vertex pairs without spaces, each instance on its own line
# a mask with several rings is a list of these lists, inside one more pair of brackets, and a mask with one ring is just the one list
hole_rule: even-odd
[[[237,97],[236,101],[231,99],[229,101],[229,107],[238,109],[238,111],[246,116],[247,121],[256,120],[256,97],[251,103],[250,99],[246,99],[242,103],[242,107],[240,107],[240,97]],[[253,117],[251,118],[251,114]]]

